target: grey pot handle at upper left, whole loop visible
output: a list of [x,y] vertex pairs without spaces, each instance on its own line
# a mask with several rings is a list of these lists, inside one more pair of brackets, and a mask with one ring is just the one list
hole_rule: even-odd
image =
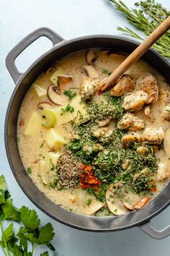
[[17,59],[17,56],[24,51],[27,46],[30,46],[31,43],[33,43],[35,40],[40,38],[41,36],[45,36],[46,38],[50,39],[53,43],[53,46],[57,43],[60,43],[64,39],[61,37],[61,35],[58,35],[53,30],[50,30],[48,27],[41,27],[29,35],[27,35],[23,40],[21,40],[19,43],[17,43],[17,46],[14,46],[11,51],[9,51],[9,54],[6,56],[6,67],[9,71],[9,73],[12,76],[12,79],[14,80],[15,84],[19,80],[19,78],[22,76],[22,73],[19,72],[17,69],[14,61]]

